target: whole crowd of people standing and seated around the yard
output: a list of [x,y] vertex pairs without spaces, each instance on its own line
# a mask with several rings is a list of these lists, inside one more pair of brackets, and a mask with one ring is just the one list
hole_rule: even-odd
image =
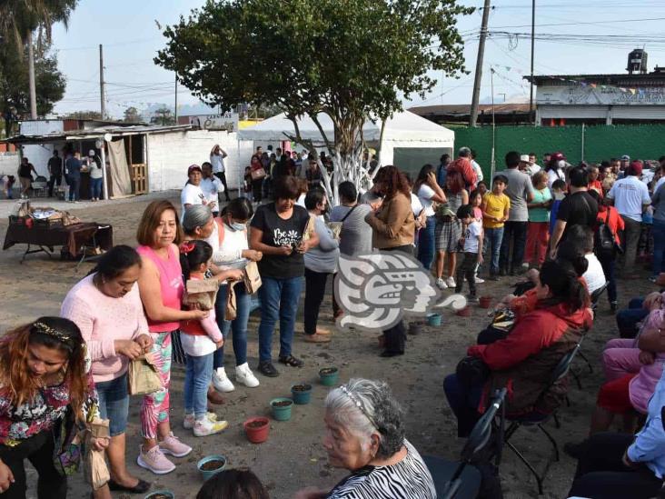
[[[106,453],[110,481],[94,496],[146,492],[150,484],[125,465],[127,372],[137,359],[149,359],[161,384],[142,398],[136,458],[141,467],[168,474],[176,468],[173,458],[192,451],[171,424],[173,363],[185,371],[178,422],[197,437],[223,432],[228,423],[211,405],[222,404],[223,394],[236,385],[260,384],[247,359],[256,292],[247,274],[253,267],[262,283],[255,370],[268,377],[280,375],[273,364],[278,324],[277,362],[287,368],[304,364],[293,351],[303,285],[303,341],[332,341],[332,331],[319,326],[319,314],[341,255],[377,250],[412,255],[442,290],[462,293],[466,281],[470,301],[477,299],[483,279],[525,274],[520,293],[497,305],[511,312],[511,327],[490,324],[467,351],[464,364],[474,366],[472,379],[469,370],[459,368],[445,378],[462,437],[470,434],[495,388],[511,387],[505,403],[511,416],[551,414],[561,405],[565,383],[549,384],[549,376],[591,328],[596,292],[607,286],[610,310],[618,311],[615,264],[625,278],[633,278],[639,255],[652,252],[651,280],[665,285],[660,274],[665,157],[659,171],[647,177],[640,161],[625,156],[572,166],[554,153],[541,168],[535,155],[510,152],[505,169],[486,182],[475,153],[462,147],[454,160],[443,155],[439,165],[422,166],[414,180],[386,165],[367,192],[342,182],[340,205],[331,206],[319,169],[330,158],[268,149],[256,149],[246,170],[245,196],[231,199],[226,154],[215,145],[210,161],[187,169],[180,210],[167,200],[152,202],[138,224],[136,247],[117,245],[102,255],[66,295],[60,317],[41,317],[0,340],[0,495],[25,496],[28,459],[39,474],[39,497],[65,497],[65,474],[52,459],[61,450],[53,435],[61,425],[90,424],[97,415],[110,421],[109,437],[91,443]],[[190,284],[205,281],[218,286],[208,309],[192,304],[185,293]],[[650,497],[660,488],[665,452],[655,445],[665,449],[658,402],[665,386],[664,310],[665,294],[654,293],[616,316],[621,339],[610,341],[603,354],[608,382],[600,388],[591,436],[567,446],[580,458],[572,495],[596,496],[607,487],[606,474],[616,474],[616,490],[629,490],[620,487],[630,484],[645,491],[623,496]],[[334,294],[332,314],[343,314]],[[234,375],[225,367],[229,335]],[[381,356],[404,354],[405,339],[403,321],[385,330]],[[325,408],[323,446],[330,463],[351,474],[331,490],[303,489],[298,499],[436,496],[387,384],[352,379],[328,394]],[[619,414],[629,431],[636,429],[636,415],[647,417],[632,444],[605,432]],[[626,453],[615,462],[620,448]],[[601,449],[607,449],[604,456]],[[252,497],[267,497],[256,477],[243,470],[220,474],[198,497],[236,490],[239,483],[252,487]]]

